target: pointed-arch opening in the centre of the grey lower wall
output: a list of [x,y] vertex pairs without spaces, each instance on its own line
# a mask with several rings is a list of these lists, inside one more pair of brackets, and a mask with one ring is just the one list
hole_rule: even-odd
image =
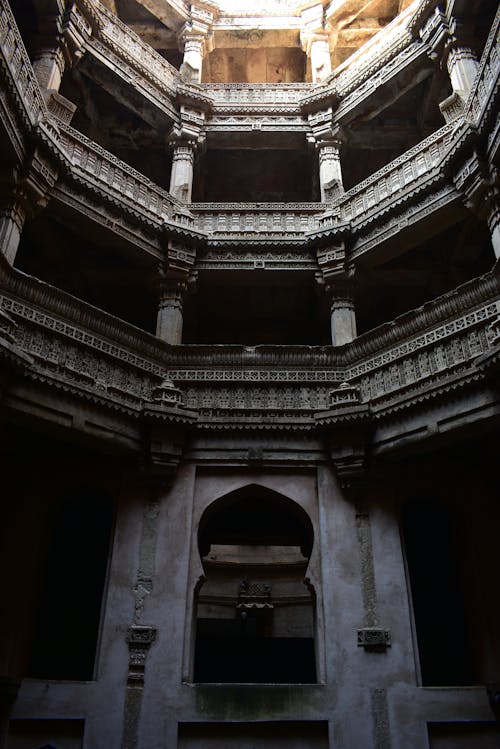
[[194,681],[315,683],[307,513],[255,484],[209,505],[198,526]]

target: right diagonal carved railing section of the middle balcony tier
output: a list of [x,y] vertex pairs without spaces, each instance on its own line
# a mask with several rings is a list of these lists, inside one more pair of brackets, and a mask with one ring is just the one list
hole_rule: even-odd
[[457,123],[448,123],[406,153],[398,156],[338,200],[332,216],[319,221],[320,228],[332,222],[365,223],[385,212],[393,200],[404,200],[405,193],[418,189],[438,167],[453,143]]

